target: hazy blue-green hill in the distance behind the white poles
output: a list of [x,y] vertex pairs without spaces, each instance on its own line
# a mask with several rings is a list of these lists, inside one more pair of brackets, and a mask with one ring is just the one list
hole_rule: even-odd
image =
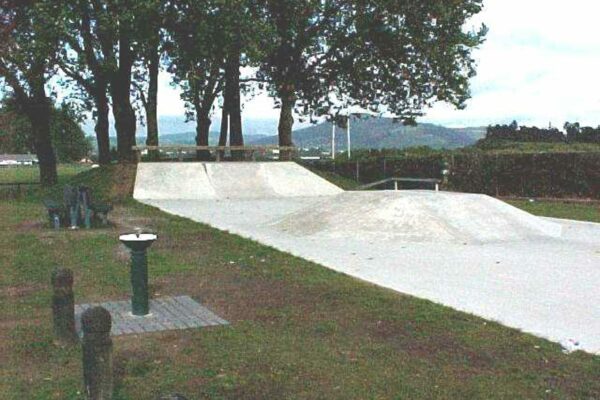
[[[407,148],[429,146],[454,149],[470,146],[485,136],[486,128],[446,128],[434,124],[405,126],[392,118],[352,118],[351,144],[356,149]],[[294,131],[294,144],[302,148],[331,147],[331,123],[321,123]],[[249,137],[248,144],[276,144],[277,136]],[[336,128],[336,148],[346,148],[346,130]]]

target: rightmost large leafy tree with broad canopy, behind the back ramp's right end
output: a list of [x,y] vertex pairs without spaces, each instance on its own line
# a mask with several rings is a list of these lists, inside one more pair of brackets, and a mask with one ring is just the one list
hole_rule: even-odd
[[463,27],[481,4],[258,1],[256,13],[276,38],[264,43],[261,75],[281,107],[279,144],[292,145],[294,108],[312,116],[360,106],[410,123],[435,101],[463,107],[475,73],[471,51],[486,33]]

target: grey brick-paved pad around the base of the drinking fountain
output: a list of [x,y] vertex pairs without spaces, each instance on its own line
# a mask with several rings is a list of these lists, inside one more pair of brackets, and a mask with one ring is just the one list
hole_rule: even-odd
[[150,314],[145,316],[132,315],[130,301],[109,301],[75,306],[75,328],[80,336],[83,335],[81,314],[94,306],[102,306],[110,312],[112,317],[111,336],[228,324],[227,321],[189,296],[152,299],[150,300]]

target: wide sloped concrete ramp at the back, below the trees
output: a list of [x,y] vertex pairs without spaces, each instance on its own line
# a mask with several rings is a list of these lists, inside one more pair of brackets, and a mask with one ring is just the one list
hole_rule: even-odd
[[293,162],[141,163],[135,199],[261,199],[341,193]]

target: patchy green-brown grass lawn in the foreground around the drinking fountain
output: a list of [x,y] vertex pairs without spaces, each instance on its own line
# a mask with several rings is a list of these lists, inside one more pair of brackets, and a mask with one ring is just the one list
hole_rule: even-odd
[[127,299],[117,236],[134,227],[159,235],[151,292],[191,295],[231,325],[114,338],[115,399],[600,398],[600,357],[143,206],[133,174],[74,178],[116,203],[106,229],[49,229],[42,195],[0,202],[1,399],[83,399],[79,347],[52,340],[50,273],[73,269],[77,303]]

